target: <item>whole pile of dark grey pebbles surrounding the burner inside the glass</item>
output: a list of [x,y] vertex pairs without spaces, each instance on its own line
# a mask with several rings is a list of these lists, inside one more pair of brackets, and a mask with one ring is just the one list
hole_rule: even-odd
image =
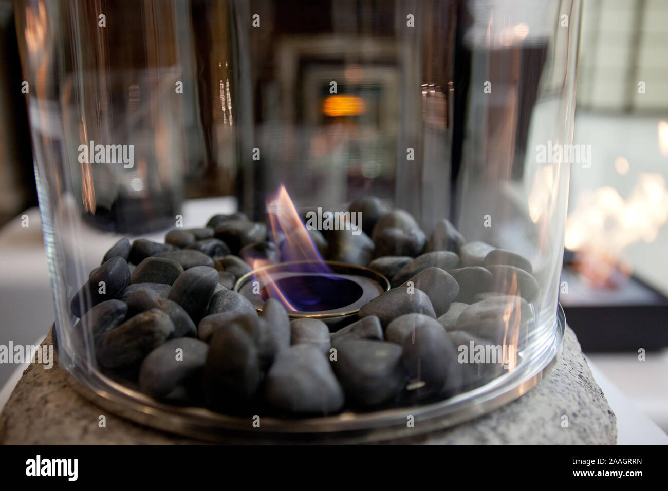
[[462,363],[458,347],[507,342],[509,325],[521,343],[540,293],[530,261],[466,242],[448,220],[427,236],[374,197],[349,210],[362,212],[361,234],[309,230],[314,243],[391,289],[338,331],[291,321],[275,299],[258,313],[233,291],[251,271],[242,257],[281,261],[284,242],[242,213],[218,214],[164,244],[116,242],[71,301],[75,355],[161,401],[285,417],[444,399],[500,375],[501,360]]

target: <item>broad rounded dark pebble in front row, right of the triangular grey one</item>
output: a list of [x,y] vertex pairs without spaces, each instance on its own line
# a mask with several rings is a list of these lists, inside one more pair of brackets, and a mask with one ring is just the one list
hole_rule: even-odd
[[401,353],[401,346],[384,341],[348,339],[337,345],[331,365],[346,398],[365,407],[395,399],[407,379]]

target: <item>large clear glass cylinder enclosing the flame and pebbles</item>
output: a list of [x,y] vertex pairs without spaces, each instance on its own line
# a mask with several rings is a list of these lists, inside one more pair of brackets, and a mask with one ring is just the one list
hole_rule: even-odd
[[23,1],[59,355],[160,401],[444,400],[554,342],[577,1]]

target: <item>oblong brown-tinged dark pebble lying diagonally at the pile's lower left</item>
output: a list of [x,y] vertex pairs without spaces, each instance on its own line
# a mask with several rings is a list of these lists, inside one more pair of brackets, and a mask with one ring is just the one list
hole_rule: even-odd
[[106,368],[136,365],[173,332],[174,324],[163,311],[142,312],[100,337],[96,344],[98,361]]

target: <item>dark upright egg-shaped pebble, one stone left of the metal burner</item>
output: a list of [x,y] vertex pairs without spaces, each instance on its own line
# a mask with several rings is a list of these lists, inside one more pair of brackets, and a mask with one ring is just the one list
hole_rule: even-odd
[[167,298],[178,303],[198,323],[208,308],[218,285],[218,271],[208,266],[196,266],[186,269],[174,281]]

